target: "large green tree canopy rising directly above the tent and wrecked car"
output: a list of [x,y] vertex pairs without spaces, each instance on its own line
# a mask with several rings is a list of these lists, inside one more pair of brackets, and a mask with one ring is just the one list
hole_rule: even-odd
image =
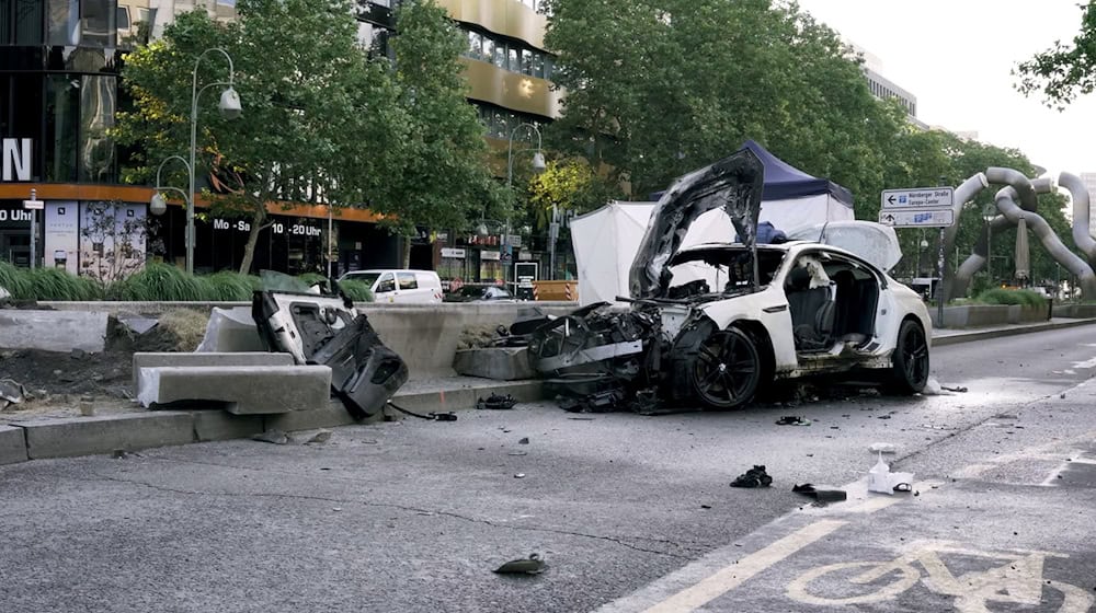
[[567,90],[553,147],[606,164],[644,197],[753,138],[849,187],[858,207],[877,199],[903,114],[871,96],[850,49],[795,4],[547,4],[545,41]]

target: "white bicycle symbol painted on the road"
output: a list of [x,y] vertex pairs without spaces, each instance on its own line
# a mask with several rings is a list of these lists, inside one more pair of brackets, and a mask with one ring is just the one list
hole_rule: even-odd
[[[989,569],[957,577],[945,564],[945,557],[993,563]],[[981,552],[933,541],[921,543],[892,560],[844,562],[812,568],[788,585],[787,595],[819,606],[881,602],[897,598],[921,581],[938,594],[955,597],[955,610],[959,613],[989,613],[991,602],[1038,605],[1043,602],[1044,588],[1061,593],[1059,613],[1088,611],[1096,598],[1087,590],[1042,578],[1043,560],[1048,557],[1069,556],[1030,551]],[[996,566],[997,560],[1003,564]]]

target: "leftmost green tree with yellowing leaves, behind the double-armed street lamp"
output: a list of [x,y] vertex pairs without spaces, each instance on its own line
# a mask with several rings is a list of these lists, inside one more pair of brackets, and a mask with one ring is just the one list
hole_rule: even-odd
[[[246,217],[255,239],[270,223],[266,203],[361,206],[403,165],[407,117],[389,62],[357,45],[351,0],[239,0],[238,19],[212,20],[205,9],[180,14],[163,37],[126,56],[123,83],[133,111],[119,113],[113,136],[141,151],[125,169],[130,183],[151,181],[161,160],[190,144],[191,86],[203,51],[225,49],[243,113],[217,113],[221,88],[198,104],[195,173],[210,171],[220,188],[212,212]],[[197,65],[198,88],[227,80],[224,55]],[[164,184],[185,185],[182,164],[164,167]]]

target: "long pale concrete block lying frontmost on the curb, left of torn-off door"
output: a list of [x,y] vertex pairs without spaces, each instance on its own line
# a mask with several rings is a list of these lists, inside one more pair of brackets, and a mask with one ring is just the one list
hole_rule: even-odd
[[217,401],[236,415],[288,413],[327,406],[331,369],[326,366],[194,366],[142,368],[137,400],[146,407],[184,401]]

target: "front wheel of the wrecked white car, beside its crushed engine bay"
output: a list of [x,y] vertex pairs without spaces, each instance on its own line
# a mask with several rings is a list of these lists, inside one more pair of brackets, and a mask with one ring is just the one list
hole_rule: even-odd
[[753,400],[761,383],[761,367],[754,339],[731,327],[700,344],[688,371],[697,400],[707,407],[727,410]]

